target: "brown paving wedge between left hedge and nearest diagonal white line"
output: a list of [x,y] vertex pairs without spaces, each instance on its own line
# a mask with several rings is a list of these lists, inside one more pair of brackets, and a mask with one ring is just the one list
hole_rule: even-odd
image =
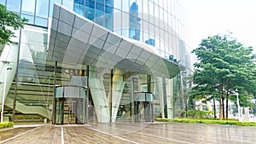
[[11,137],[14,137],[15,135],[20,135],[28,130],[32,130],[35,128],[15,128],[15,129],[9,129],[9,130],[1,130],[0,131],[0,141],[7,140]]

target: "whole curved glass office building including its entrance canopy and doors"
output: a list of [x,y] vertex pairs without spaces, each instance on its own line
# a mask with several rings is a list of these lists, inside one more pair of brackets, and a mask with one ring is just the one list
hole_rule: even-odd
[[0,0],[29,21],[0,46],[5,120],[145,122],[183,115],[182,1]]

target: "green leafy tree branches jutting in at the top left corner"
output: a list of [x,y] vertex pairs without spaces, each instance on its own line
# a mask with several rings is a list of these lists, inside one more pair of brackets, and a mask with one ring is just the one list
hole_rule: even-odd
[[25,18],[20,18],[19,14],[8,11],[0,4],[0,44],[11,43],[10,38],[15,37],[15,33],[10,28],[18,30],[26,21]]

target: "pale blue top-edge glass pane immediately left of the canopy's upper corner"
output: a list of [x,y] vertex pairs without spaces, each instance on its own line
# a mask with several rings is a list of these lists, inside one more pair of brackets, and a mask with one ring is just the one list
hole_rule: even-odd
[[36,15],[47,18],[49,9],[49,0],[37,0]]

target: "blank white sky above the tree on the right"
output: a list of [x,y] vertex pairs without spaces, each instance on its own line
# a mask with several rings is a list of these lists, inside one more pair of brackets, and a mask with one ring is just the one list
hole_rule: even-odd
[[233,33],[256,53],[256,0],[183,0],[191,48],[215,34]]

